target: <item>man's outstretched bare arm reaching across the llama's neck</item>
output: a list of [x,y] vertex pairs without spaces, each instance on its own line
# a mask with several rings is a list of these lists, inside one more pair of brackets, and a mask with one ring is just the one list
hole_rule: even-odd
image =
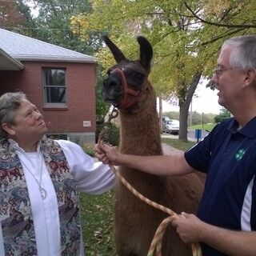
[[95,147],[99,161],[114,166],[127,166],[149,174],[180,176],[195,170],[186,162],[183,153],[174,155],[138,156],[118,153],[116,148],[99,142]]

